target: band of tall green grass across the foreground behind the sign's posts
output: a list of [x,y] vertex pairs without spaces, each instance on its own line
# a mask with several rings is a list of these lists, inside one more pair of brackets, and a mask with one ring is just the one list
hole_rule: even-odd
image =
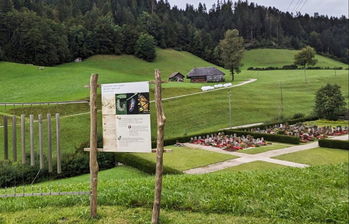
[[[162,207],[178,211],[281,218],[295,223],[348,223],[348,168],[348,163],[341,163],[264,172],[169,175],[164,177]],[[47,190],[49,183],[46,184],[42,188]],[[86,190],[88,184],[61,188],[63,191]],[[151,208],[154,177],[103,181],[99,183],[98,193],[99,205]],[[77,205],[89,205],[89,197],[1,199],[0,213]]]

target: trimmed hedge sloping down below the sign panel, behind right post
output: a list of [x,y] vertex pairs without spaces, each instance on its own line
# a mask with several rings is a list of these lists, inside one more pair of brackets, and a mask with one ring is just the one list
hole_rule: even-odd
[[[128,152],[115,152],[115,161],[137,168],[145,173],[155,174],[156,163]],[[181,174],[179,170],[164,166],[163,174]]]

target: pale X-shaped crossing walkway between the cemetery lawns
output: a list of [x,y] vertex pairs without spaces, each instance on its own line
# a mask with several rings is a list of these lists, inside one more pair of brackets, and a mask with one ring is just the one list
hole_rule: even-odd
[[[343,135],[343,136],[336,136],[331,139],[336,139],[336,140],[347,140],[348,135]],[[200,148],[203,150],[207,151],[213,151],[213,152],[218,152],[218,153],[223,153],[223,154],[230,154],[234,156],[238,156],[239,158],[236,159],[230,159],[226,160],[224,162],[219,162],[219,163],[214,163],[210,164],[207,166],[202,166],[202,167],[197,167],[189,170],[184,170],[183,173],[186,174],[204,174],[204,173],[210,173],[214,172],[217,170],[222,170],[228,167],[232,166],[238,166],[244,163],[249,163],[249,162],[254,162],[254,161],[264,161],[264,162],[269,162],[269,163],[276,163],[280,165],[285,165],[285,166],[291,166],[291,167],[308,167],[309,165],[307,164],[302,164],[302,163],[295,163],[295,162],[290,162],[290,161],[285,161],[285,160],[279,160],[279,159],[273,159],[271,157],[283,155],[283,154],[288,154],[288,153],[293,153],[293,152],[299,152],[311,148],[316,148],[319,146],[318,142],[313,142],[309,144],[304,144],[304,145],[295,145],[292,147],[288,148],[281,148],[281,149],[276,149],[276,150],[271,150],[267,152],[261,152],[258,154],[246,154],[246,153],[241,153],[241,152],[228,152],[224,151],[219,148],[215,148],[212,146],[205,146],[205,145],[196,145],[196,144],[191,144],[191,143],[184,143],[185,146],[190,147],[190,148]]]

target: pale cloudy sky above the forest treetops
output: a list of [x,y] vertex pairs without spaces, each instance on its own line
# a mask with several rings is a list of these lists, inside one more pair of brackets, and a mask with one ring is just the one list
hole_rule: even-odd
[[[213,3],[216,3],[217,0],[168,0],[171,6],[177,5],[179,8],[185,8],[185,3],[194,5],[197,8],[199,2],[202,4],[205,3],[207,10],[212,7]],[[233,0],[235,1],[235,0]],[[251,2],[251,0],[249,0]],[[304,15],[308,13],[314,15],[314,12],[319,12],[319,14],[331,15],[340,17],[345,15],[347,18],[349,11],[349,0],[252,0],[259,5],[264,6],[275,6],[281,11],[296,11],[297,7],[299,11],[301,8],[301,13]],[[292,3],[291,3],[292,2]],[[298,4],[297,4],[298,3]],[[304,6],[303,6],[304,4]],[[299,6],[298,6],[299,5]],[[303,7],[302,7],[303,6]]]

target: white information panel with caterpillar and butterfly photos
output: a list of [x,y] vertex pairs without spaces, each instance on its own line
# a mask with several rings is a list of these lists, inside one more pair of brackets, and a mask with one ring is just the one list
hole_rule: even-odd
[[105,151],[152,152],[149,82],[101,86]]

